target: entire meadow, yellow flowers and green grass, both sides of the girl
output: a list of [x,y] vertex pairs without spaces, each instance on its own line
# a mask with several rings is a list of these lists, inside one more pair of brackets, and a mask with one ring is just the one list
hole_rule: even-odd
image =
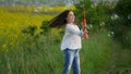
[[[39,33],[43,21],[51,20],[64,9],[0,8],[0,74],[61,74],[63,53],[60,41],[63,34],[57,29]],[[36,26],[35,35],[22,33],[29,25]],[[82,46],[82,74],[120,74],[123,66],[130,67],[130,59],[121,60],[130,57],[130,52],[126,50],[126,55],[120,54],[120,46],[112,41],[106,29],[91,32],[90,39],[83,39]]]

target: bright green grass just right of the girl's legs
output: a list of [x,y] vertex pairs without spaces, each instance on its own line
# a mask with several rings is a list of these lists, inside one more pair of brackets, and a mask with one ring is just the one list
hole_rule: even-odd
[[112,62],[110,37],[107,30],[99,30],[91,35],[90,39],[84,39],[81,50],[81,62],[83,74],[106,74]]

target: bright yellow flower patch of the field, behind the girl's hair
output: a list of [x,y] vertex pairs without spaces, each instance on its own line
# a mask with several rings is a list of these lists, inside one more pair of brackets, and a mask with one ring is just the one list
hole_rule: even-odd
[[[50,20],[53,15],[46,14],[49,11],[60,12],[62,8],[35,7],[1,7],[0,8],[0,51],[8,51],[15,47],[24,36],[22,28],[28,25],[40,26],[43,21]],[[17,48],[20,49],[20,48]]]

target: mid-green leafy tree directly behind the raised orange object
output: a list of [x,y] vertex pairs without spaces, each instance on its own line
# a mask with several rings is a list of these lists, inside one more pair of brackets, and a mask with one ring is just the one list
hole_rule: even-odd
[[94,3],[91,0],[80,1],[75,4],[76,7],[76,22],[80,24],[82,22],[83,9],[86,12],[87,27],[91,30],[96,32],[105,26],[105,22],[109,20],[110,5],[107,2]]

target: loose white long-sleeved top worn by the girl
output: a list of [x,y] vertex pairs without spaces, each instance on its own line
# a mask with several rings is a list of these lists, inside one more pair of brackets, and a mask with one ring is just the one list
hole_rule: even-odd
[[81,36],[83,32],[76,25],[67,24],[66,34],[61,42],[61,50],[67,48],[75,50],[81,49]]

